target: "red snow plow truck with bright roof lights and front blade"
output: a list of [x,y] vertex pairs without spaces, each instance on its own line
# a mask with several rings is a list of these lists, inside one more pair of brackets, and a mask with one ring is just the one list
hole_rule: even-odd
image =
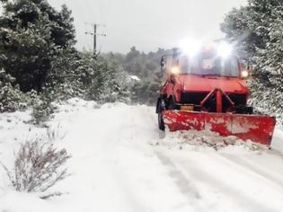
[[211,130],[270,146],[276,120],[253,113],[245,79],[250,68],[228,46],[173,49],[161,60],[166,81],[156,104],[158,127]]

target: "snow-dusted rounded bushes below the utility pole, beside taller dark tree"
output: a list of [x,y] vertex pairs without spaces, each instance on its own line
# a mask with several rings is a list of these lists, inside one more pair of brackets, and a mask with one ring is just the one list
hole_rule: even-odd
[[127,77],[113,57],[105,59],[93,57],[91,52],[65,49],[52,63],[47,85],[56,91],[53,93],[55,99],[76,96],[98,102],[114,102],[127,99]]

